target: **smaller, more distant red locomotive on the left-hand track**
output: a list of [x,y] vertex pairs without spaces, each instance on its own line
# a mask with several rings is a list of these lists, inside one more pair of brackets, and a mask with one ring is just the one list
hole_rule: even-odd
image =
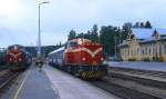
[[20,71],[29,68],[32,57],[23,46],[13,44],[7,49],[6,62],[11,71]]

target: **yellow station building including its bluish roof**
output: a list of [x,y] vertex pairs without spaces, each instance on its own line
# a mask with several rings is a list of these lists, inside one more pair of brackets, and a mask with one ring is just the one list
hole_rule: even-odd
[[166,61],[166,29],[132,29],[118,47],[124,61]]

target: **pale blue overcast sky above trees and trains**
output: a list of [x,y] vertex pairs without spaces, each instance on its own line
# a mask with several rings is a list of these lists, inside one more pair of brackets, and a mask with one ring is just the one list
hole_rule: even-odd
[[[41,7],[42,44],[66,41],[71,29],[149,20],[166,27],[166,0],[49,0]],[[0,0],[0,47],[35,46],[39,0]]]

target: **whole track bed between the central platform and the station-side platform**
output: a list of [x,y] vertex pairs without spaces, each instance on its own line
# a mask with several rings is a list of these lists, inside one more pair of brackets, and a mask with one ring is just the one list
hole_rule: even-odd
[[110,68],[108,76],[92,85],[123,99],[166,99],[166,72]]

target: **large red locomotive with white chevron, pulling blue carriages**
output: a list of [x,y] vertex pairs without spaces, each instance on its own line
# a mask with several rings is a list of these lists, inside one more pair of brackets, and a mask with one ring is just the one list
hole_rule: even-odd
[[83,79],[102,79],[107,75],[100,43],[87,39],[73,39],[49,53],[49,63]]

